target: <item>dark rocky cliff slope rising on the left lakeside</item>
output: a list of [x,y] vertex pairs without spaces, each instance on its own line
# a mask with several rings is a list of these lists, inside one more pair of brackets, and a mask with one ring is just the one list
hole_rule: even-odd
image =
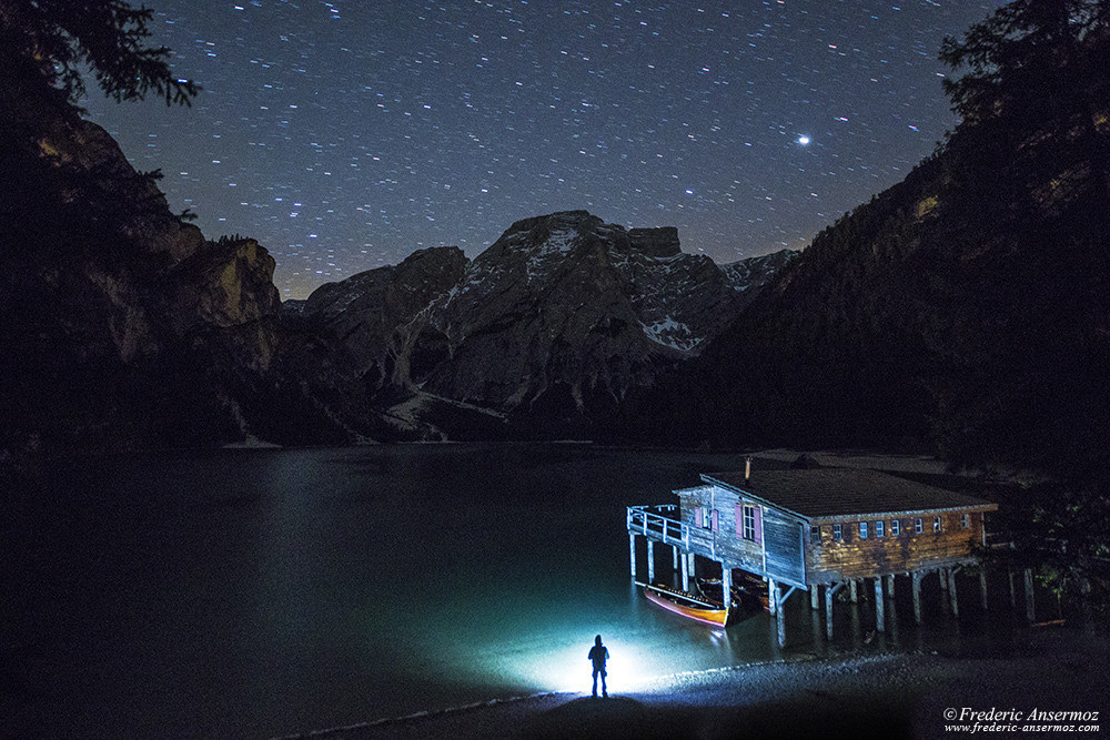
[[205,240],[68,107],[3,92],[0,449],[240,437],[229,379],[272,353],[273,260]]

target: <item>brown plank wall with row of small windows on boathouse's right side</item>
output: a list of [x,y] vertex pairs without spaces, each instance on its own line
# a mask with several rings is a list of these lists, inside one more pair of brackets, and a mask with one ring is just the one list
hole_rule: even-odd
[[[811,527],[820,527],[820,543],[806,539],[806,564],[809,582],[831,584],[850,578],[867,578],[929,570],[963,562],[971,557],[976,545],[982,543],[983,515],[968,511],[969,527],[963,528],[963,511],[922,511],[912,515],[887,517],[857,517],[825,519]],[[941,530],[934,531],[934,516],[941,519]],[[920,517],[921,534],[915,520]],[[891,535],[890,523],[899,521],[899,534]],[[876,536],[877,521],[884,523],[884,536]],[[859,535],[859,523],[868,525],[868,536]],[[840,524],[844,539],[833,538],[834,524]]]

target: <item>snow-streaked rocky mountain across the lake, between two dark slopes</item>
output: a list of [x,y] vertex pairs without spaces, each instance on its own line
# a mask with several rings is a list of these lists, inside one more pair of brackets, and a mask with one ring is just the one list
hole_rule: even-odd
[[309,386],[321,363],[334,369],[314,397],[352,428],[377,416],[421,437],[587,435],[696,356],[793,254],[720,267],[683,253],[673,227],[526,219],[473,261],[423,250],[322,286],[286,321],[326,351],[286,365]]

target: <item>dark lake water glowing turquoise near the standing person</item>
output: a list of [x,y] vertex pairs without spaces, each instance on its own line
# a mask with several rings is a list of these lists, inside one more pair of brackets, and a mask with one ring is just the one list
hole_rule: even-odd
[[[824,651],[805,594],[780,651],[766,614],[720,636],[630,586],[625,507],[743,465],[413,445],[62,467],[3,501],[0,734],[275,736],[588,691],[597,632],[616,692]],[[862,631],[841,619],[834,648]]]

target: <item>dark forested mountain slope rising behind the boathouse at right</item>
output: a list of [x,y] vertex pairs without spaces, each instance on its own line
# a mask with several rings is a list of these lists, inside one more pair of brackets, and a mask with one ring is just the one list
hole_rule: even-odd
[[1081,39],[1026,47],[1058,73],[1022,62],[904,182],[818,234],[644,403],[657,424],[1104,475],[1110,34]]

